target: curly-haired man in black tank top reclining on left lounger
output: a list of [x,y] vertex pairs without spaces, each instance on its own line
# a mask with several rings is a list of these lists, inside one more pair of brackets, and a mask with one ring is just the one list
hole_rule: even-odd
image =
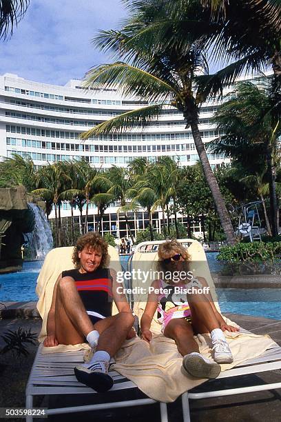
[[[126,338],[134,336],[134,316],[124,294],[118,293],[116,272],[105,268],[107,243],[90,232],[77,240],[74,270],[63,271],[54,285],[48,313],[46,347],[79,344],[85,339],[94,350],[89,363],[74,368],[76,378],[98,392],[112,388],[108,374],[112,356]],[[112,300],[118,314],[112,316]]]

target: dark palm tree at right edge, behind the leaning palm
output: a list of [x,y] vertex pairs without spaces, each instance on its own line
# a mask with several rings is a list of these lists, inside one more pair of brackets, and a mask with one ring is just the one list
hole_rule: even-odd
[[[273,236],[278,234],[276,169],[274,157],[281,134],[280,98],[269,93],[269,87],[251,82],[240,83],[233,99],[222,104],[214,121],[224,135],[209,144],[214,152],[224,152],[245,166],[256,165],[259,173],[267,168],[269,180],[271,225]],[[256,151],[258,160],[253,160]]]

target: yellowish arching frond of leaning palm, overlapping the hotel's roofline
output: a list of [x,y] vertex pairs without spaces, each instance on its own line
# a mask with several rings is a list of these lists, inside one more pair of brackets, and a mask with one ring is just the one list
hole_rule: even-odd
[[136,95],[147,101],[165,101],[172,94],[180,94],[165,81],[145,70],[124,62],[92,68],[83,84],[86,88],[115,88],[125,96]]

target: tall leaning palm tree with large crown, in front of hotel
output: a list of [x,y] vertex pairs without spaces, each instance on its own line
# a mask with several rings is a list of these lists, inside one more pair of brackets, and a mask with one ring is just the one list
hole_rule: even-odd
[[[189,33],[189,42],[181,42],[178,27],[173,27],[173,19],[165,14],[166,2],[139,3],[143,16],[136,13],[121,31],[103,31],[96,38],[96,45],[101,50],[112,50],[126,61],[101,65],[92,68],[87,74],[85,86],[88,88],[117,88],[124,95],[136,95],[151,103],[149,106],[125,112],[85,132],[83,139],[98,134],[121,132],[136,126],[148,124],[156,119],[165,106],[177,108],[185,119],[186,128],[191,128],[194,143],[202,163],[204,174],[213,194],[227,241],[235,243],[236,237],[229,219],[225,202],[220,193],[218,182],[211,170],[204,143],[198,128],[200,105],[207,97],[196,88],[198,72],[208,74],[204,47],[198,41],[198,35]],[[150,4],[150,3],[149,3]],[[148,12],[147,12],[148,10]],[[152,14],[153,12],[153,14]],[[149,14],[150,13],[150,14]],[[169,37],[177,38],[178,43],[167,42],[167,37],[158,42],[152,41],[155,28],[149,35],[149,20],[160,22],[165,15],[169,21]],[[150,37],[150,38],[149,38]],[[150,45],[147,39],[150,39]],[[155,38],[155,37],[154,37]],[[159,37],[158,37],[159,38]],[[152,46],[152,44],[154,44]],[[149,45],[149,48],[148,48]],[[157,103],[155,103],[157,101]]]

